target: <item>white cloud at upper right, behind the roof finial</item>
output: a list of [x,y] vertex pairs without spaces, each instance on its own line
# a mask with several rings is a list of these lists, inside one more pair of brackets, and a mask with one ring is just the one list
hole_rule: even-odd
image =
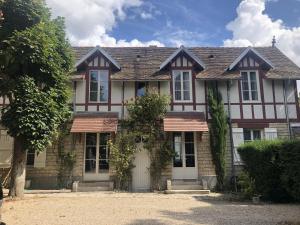
[[224,46],[270,46],[273,35],[276,46],[300,66],[300,26],[289,28],[282,20],[272,20],[264,13],[269,0],[243,0],[237,8],[238,16],[227,24],[232,39]]

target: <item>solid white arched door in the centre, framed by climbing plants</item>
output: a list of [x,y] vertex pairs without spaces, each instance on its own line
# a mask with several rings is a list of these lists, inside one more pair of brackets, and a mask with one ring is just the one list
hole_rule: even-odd
[[[139,145],[142,146],[142,143]],[[150,158],[146,149],[135,154],[134,168],[132,169],[132,190],[133,191],[149,191],[150,190]]]

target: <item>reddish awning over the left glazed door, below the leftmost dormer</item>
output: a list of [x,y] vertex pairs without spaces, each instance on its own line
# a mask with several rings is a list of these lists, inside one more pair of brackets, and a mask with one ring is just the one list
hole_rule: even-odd
[[71,133],[117,132],[118,113],[82,113],[75,115]]

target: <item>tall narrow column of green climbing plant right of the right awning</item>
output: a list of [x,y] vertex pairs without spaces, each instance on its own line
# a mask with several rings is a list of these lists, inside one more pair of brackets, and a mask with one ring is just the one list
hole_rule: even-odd
[[217,189],[224,189],[227,116],[224,103],[216,87],[208,90],[209,114],[211,116],[210,148],[217,174]]

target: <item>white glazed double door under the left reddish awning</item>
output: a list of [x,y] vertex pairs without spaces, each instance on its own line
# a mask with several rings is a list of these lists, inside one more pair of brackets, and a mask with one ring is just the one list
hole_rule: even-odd
[[109,180],[109,148],[110,133],[86,133],[84,180]]

